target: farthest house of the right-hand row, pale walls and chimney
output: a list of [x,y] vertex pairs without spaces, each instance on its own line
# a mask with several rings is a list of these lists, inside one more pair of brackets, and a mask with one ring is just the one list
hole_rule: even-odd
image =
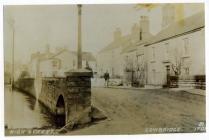
[[129,45],[130,39],[130,35],[122,36],[120,29],[116,29],[113,41],[98,53],[97,71],[99,76],[103,76],[107,71],[111,78],[123,76],[121,51]]

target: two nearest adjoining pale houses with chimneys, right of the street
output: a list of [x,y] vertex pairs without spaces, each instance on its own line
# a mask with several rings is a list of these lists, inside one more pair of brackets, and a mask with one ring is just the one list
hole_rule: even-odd
[[204,84],[204,11],[185,17],[183,4],[165,4],[162,30],[156,35],[149,33],[146,17],[141,18],[139,40],[122,51],[125,84],[162,87],[172,80],[168,75],[177,77],[178,87]]

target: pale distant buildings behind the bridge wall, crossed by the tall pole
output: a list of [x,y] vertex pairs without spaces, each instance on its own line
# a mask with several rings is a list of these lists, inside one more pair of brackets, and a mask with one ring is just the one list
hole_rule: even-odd
[[[96,59],[90,52],[82,54],[83,68],[88,65],[96,71]],[[77,53],[66,48],[57,49],[52,53],[46,49],[44,53],[37,52],[31,55],[30,72],[32,77],[64,76],[64,72],[77,68]]]

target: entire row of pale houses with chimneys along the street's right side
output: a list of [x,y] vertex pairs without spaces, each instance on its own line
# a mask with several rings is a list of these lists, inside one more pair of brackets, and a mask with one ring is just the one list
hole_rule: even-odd
[[184,80],[205,76],[204,12],[179,20],[174,20],[175,12],[169,13],[174,15],[163,16],[163,29],[156,35],[150,34],[146,16],[140,17],[130,35],[122,36],[117,29],[114,41],[99,52],[99,75],[108,71],[112,78],[138,86],[163,86],[168,74]]

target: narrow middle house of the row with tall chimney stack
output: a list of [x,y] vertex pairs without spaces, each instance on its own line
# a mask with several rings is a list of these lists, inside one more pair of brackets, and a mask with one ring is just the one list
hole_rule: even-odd
[[139,48],[148,39],[153,37],[149,30],[149,18],[141,16],[138,28],[134,25],[132,32],[135,32],[137,38],[122,51],[124,60],[124,83],[132,86],[143,86],[145,79],[144,50]]

